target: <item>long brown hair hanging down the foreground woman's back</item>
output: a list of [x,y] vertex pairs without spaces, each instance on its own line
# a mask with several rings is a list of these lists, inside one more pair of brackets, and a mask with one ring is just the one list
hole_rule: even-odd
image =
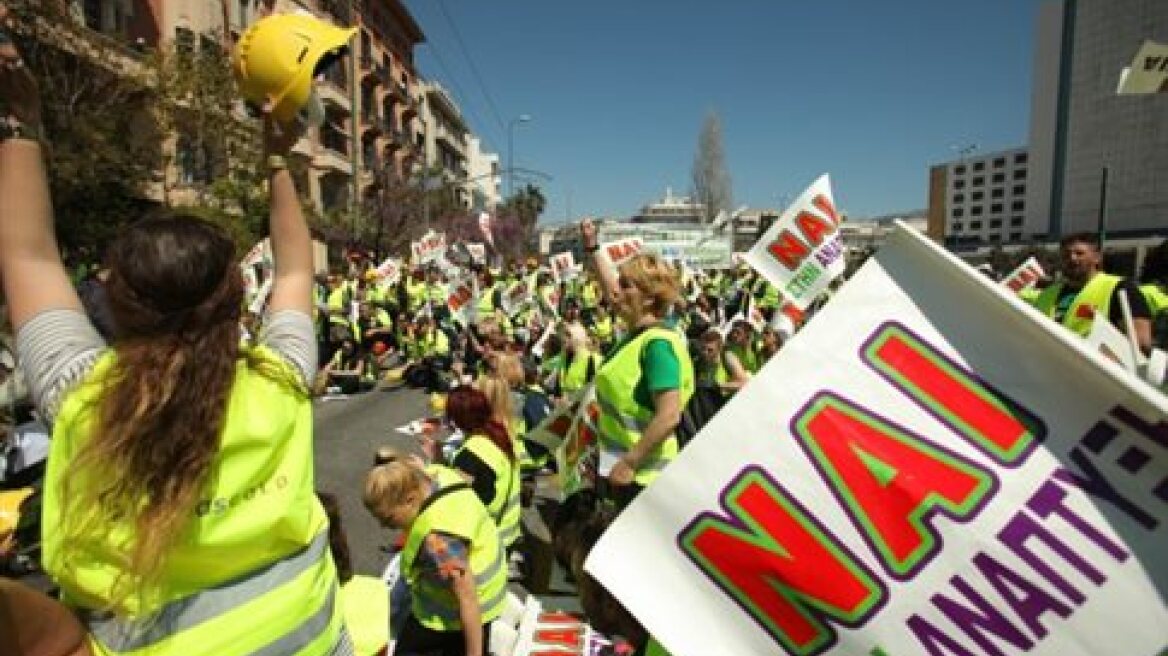
[[189,216],[133,224],[107,263],[116,357],[70,467],[85,494],[68,491],[67,476],[62,498],[67,537],[132,518],[110,594],[110,607],[125,610],[130,595],[146,599],[157,584],[218,451],[241,354],[243,282],[231,240]]

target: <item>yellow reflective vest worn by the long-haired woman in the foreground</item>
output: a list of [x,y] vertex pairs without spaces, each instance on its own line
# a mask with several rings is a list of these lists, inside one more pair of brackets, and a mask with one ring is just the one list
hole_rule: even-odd
[[260,364],[236,364],[207,489],[158,584],[126,599],[124,615],[104,608],[124,574],[133,519],[103,517],[91,533],[70,536],[61,497],[65,479],[69,494],[85,495],[93,477],[107,475],[72,465],[92,439],[113,353],[65,397],[44,481],[43,561],[86,623],[95,654],[317,655],[348,641],[328,521],[313,488],[308,393],[278,355],[263,347],[251,354]]

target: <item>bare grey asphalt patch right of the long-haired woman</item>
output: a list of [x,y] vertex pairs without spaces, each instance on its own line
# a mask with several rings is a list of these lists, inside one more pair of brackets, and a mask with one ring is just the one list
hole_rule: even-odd
[[313,402],[317,489],[336,495],[349,540],[353,568],[380,575],[389,563],[389,531],[361,504],[364,477],[382,446],[422,453],[418,440],[395,431],[429,416],[429,398],[418,390],[374,390],[347,398]]

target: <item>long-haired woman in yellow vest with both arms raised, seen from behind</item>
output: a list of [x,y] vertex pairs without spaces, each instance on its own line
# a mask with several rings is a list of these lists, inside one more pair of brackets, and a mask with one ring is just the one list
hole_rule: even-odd
[[[5,19],[0,6],[0,21]],[[107,253],[114,339],[62,266],[40,99],[0,44],[0,275],[34,399],[53,424],[43,564],[98,654],[329,654],[349,641],[313,494],[312,243],[265,118],[274,279],[259,346],[218,228],[160,210]]]

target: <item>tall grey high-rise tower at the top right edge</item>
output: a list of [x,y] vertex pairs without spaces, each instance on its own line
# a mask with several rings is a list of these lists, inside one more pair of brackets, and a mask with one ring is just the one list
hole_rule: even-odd
[[1168,41],[1166,0],[1059,0],[1035,41],[1027,224],[1094,231],[1107,169],[1107,233],[1168,231],[1168,95],[1118,96],[1145,40]]

